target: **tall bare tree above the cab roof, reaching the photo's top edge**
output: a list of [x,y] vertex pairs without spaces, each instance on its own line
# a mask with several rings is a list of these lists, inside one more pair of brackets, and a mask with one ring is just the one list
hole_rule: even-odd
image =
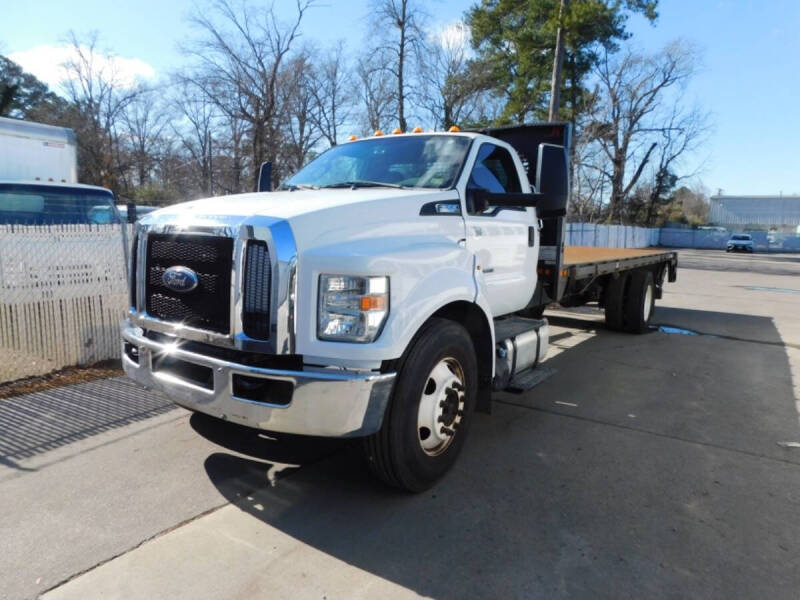
[[395,108],[398,127],[408,129],[406,104],[408,100],[408,65],[418,64],[425,43],[420,25],[422,8],[415,0],[373,0],[372,14],[376,31],[391,31],[393,35],[383,36],[376,50],[384,54],[388,61],[384,68],[394,79]]

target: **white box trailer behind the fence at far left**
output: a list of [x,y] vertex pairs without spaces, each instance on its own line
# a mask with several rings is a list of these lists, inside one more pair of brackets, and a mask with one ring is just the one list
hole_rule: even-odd
[[0,117],[0,180],[77,183],[75,132]]

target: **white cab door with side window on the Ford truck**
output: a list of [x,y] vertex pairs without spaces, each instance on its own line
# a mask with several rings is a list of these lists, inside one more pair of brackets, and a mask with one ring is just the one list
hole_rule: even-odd
[[483,142],[464,193],[467,248],[475,255],[475,277],[494,316],[521,310],[533,297],[539,232],[533,208],[489,206],[478,212],[474,192],[529,192],[518,173],[507,148]]

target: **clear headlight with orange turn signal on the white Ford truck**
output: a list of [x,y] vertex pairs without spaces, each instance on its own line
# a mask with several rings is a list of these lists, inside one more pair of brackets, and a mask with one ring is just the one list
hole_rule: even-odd
[[320,275],[317,337],[368,343],[389,315],[389,278]]

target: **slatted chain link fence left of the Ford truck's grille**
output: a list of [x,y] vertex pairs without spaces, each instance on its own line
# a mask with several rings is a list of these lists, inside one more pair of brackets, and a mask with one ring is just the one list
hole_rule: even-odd
[[123,227],[0,225],[0,383],[119,357]]

